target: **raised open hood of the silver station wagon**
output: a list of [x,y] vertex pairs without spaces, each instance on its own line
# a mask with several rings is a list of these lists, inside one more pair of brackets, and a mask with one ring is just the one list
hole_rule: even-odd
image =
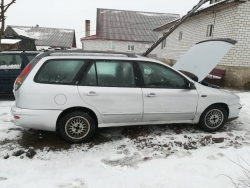
[[197,43],[173,67],[196,75],[200,82],[236,43],[231,39],[212,39]]

